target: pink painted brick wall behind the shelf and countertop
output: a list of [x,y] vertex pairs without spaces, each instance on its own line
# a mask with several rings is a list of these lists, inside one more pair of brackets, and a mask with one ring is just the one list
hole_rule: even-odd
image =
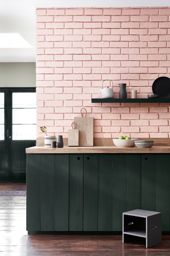
[[37,9],[37,132],[68,137],[85,107],[94,137],[170,137],[170,107],[159,103],[92,104],[102,80],[127,83],[128,97],[152,93],[170,77],[170,8]]

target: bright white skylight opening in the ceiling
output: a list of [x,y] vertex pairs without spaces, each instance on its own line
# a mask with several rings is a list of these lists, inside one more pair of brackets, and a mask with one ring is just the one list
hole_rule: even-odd
[[33,48],[18,33],[0,33],[0,48]]

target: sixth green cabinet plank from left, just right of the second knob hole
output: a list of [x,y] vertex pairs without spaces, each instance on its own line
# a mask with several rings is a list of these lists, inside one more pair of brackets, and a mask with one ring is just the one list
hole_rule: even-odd
[[112,231],[112,154],[98,157],[98,231]]

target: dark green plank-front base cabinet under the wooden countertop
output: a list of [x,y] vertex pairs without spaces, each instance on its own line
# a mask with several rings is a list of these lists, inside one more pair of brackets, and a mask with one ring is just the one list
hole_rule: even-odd
[[121,231],[122,212],[162,213],[170,154],[27,154],[27,230]]

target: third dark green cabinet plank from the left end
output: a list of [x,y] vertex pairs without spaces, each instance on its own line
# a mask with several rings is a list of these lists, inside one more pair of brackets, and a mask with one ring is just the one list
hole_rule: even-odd
[[68,231],[69,155],[55,155],[54,230]]

